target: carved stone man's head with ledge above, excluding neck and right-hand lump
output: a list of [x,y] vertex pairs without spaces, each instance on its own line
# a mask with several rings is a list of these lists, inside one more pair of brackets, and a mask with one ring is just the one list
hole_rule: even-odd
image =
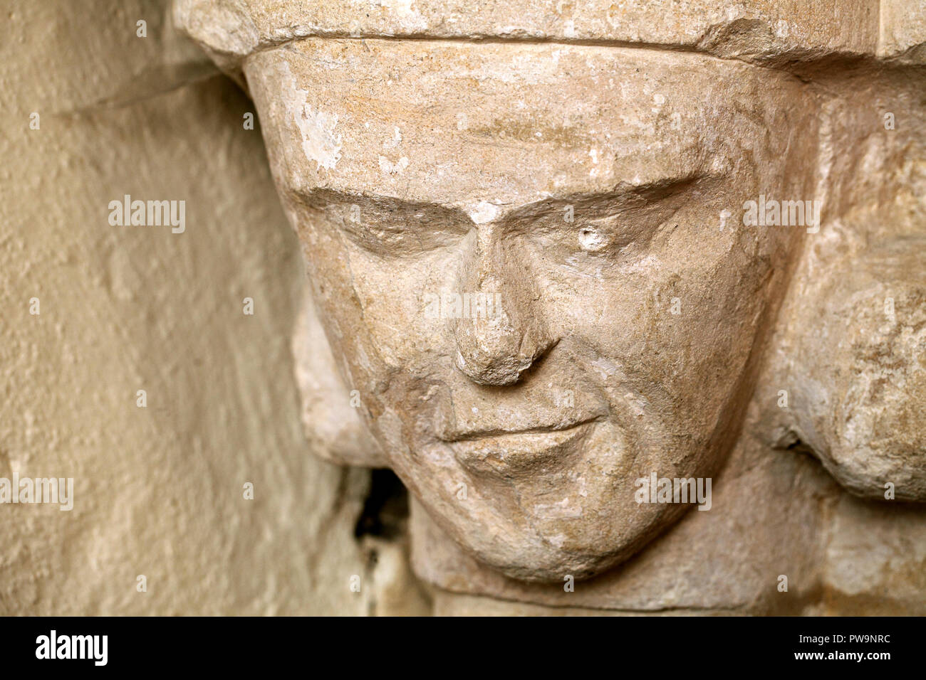
[[[691,508],[636,501],[637,480],[720,469],[822,241],[832,130],[807,79],[767,64],[825,41],[774,17],[744,51],[709,13],[634,37],[606,9],[311,5],[177,14],[251,93],[303,245],[316,448],[393,468],[511,577],[628,558]],[[807,400],[776,431],[825,458]]]

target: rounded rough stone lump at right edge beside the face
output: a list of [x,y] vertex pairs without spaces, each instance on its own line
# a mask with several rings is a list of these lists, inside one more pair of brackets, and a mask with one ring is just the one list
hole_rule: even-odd
[[778,348],[772,444],[817,456],[857,496],[926,502],[926,236],[815,278]]

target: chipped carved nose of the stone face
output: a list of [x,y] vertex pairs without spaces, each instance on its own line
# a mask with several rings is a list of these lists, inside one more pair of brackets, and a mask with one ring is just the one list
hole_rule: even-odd
[[460,264],[457,292],[461,313],[450,319],[457,343],[457,368],[480,385],[518,382],[555,343],[536,283],[513,244],[480,228],[476,244]]

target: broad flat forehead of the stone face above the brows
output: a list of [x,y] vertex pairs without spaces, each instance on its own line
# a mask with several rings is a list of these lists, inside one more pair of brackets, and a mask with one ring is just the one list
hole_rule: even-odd
[[244,72],[286,188],[476,218],[779,167],[793,125],[776,102],[799,96],[770,69],[557,43],[308,39],[251,56]]

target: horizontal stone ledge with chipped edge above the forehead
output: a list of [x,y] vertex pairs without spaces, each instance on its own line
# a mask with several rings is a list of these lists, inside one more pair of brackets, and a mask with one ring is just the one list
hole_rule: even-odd
[[177,17],[230,70],[309,36],[605,42],[767,60],[873,55],[879,35],[877,0],[178,0]]

